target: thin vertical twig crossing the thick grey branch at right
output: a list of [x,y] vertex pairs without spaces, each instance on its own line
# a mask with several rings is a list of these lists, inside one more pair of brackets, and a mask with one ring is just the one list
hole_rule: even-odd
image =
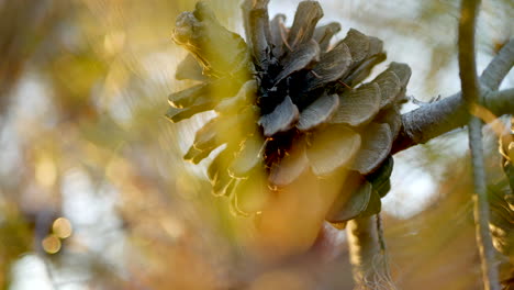
[[[462,88],[462,98],[468,111],[474,105],[480,105],[480,88],[477,76],[474,57],[474,27],[480,0],[462,0],[459,22],[459,71]],[[489,76],[489,75],[488,75]],[[488,77],[491,86],[499,85]],[[482,278],[485,290],[499,290],[499,275],[494,263],[494,247],[489,232],[489,201],[482,145],[482,121],[478,116],[471,116],[469,122],[469,147],[474,181],[474,224],[477,231],[477,244],[482,265]]]

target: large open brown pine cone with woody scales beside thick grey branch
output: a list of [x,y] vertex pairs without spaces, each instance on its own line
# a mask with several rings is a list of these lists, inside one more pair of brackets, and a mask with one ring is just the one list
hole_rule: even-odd
[[327,220],[377,213],[390,188],[410,67],[391,63],[362,83],[386,59],[381,40],[350,29],[331,45],[340,25],[316,27],[319,2],[301,2],[291,27],[282,14],[269,21],[268,2],[244,1],[246,42],[223,27],[206,2],[178,16],[174,40],[190,54],[176,77],[201,83],[171,93],[166,115],[178,122],[217,113],[185,159],[198,164],[226,144],[208,175],[213,193],[231,197],[235,213],[258,212],[268,188],[286,187],[308,169],[322,177],[339,168],[350,170],[345,192],[351,198],[336,200]]

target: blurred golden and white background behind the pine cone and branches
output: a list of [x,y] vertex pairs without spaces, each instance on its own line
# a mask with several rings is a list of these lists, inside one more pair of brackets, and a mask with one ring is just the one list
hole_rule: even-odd
[[[291,24],[298,2],[271,1],[270,15]],[[384,41],[377,70],[412,67],[409,96],[459,90],[459,1],[321,3],[321,23],[342,23],[337,40],[355,27]],[[212,4],[243,33],[238,0]],[[238,239],[243,217],[211,197],[205,164],[181,160],[204,119],[171,124],[164,113],[167,96],[191,85],[174,79],[186,52],[170,36],[193,7],[0,0],[0,289],[351,288],[346,248],[258,263]],[[480,71],[513,37],[513,1],[482,1]],[[502,87],[513,85],[511,71]],[[494,187],[503,176],[488,127],[485,148]],[[400,289],[481,289],[468,157],[462,131],[395,156],[383,219]]]

